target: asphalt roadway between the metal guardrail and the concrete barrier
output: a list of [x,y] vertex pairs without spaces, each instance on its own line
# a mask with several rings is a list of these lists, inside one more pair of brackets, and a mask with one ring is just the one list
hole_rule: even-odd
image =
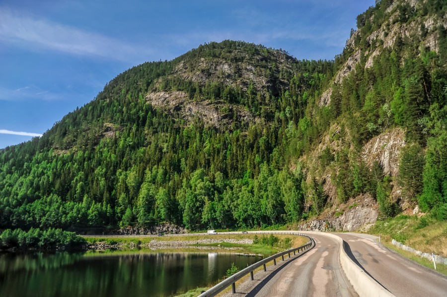
[[338,242],[323,235],[312,238],[316,242],[313,249],[290,261],[270,281],[256,286],[246,296],[358,296],[340,266]]

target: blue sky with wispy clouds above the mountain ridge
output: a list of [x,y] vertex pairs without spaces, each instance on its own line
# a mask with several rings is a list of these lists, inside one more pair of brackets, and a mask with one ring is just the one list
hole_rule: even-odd
[[0,148],[45,132],[128,68],[173,59],[205,42],[243,40],[297,59],[334,59],[357,15],[371,5],[374,0],[1,0]]

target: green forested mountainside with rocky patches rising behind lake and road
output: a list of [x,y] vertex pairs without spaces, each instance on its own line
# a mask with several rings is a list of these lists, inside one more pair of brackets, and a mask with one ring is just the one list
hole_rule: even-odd
[[[365,194],[447,219],[446,13],[382,0],[334,61],[224,41],[135,66],[0,150],[0,228],[256,227]],[[397,130],[393,174],[365,151]]]

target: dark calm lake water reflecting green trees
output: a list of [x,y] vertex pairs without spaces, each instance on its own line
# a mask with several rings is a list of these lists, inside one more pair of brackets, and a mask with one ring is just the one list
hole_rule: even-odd
[[221,279],[262,257],[135,252],[0,255],[0,296],[171,296]]

